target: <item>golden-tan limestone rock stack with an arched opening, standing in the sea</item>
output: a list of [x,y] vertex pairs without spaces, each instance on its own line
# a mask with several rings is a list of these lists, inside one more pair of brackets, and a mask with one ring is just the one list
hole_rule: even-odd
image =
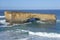
[[29,18],[39,18],[43,22],[56,22],[56,15],[54,14],[37,14],[27,12],[9,12],[5,11],[5,18],[7,22],[24,23]]

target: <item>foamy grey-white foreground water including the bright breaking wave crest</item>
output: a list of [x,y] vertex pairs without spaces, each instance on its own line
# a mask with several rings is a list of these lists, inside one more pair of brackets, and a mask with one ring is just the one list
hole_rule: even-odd
[[[26,34],[25,32],[29,32],[29,34],[25,35]],[[27,30],[17,29],[17,30],[7,30],[4,32],[1,32],[0,39],[1,40],[34,40],[34,39],[35,40],[41,40],[41,39],[55,40],[55,39],[60,39],[59,35],[60,34],[57,34],[57,33],[31,32]]]

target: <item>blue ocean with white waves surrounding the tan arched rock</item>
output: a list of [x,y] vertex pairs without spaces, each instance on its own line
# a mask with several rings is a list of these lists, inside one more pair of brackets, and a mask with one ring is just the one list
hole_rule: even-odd
[[[22,24],[9,26],[4,11],[55,14],[56,24]],[[60,40],[60,10],[0,10],[0,40]]]

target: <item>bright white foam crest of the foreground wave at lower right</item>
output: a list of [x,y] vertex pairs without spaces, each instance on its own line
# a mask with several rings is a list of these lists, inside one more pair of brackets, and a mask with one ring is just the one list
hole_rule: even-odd
[[31,32],[31,31],[29,31],[29,34],[36,35],[36,36],[42,36],[42,37],[48,37],[48,38],[60,38],[60,34],[57,34],[57,33]]

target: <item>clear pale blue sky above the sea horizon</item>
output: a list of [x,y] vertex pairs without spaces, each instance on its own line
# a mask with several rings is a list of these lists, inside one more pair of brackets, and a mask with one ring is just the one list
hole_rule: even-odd
[[60,0],[0,0],[0,9],[60,9]]

